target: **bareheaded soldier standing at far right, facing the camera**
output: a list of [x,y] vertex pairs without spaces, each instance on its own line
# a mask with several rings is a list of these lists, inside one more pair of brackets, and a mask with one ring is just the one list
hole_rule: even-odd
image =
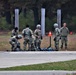
[[63,23],[63,27],[60,29],[61,34],[61,49],[63,44],[65,44],[65,49],[67,49],[67,36],[69,34],[69,29],[66,27],[66,23]]

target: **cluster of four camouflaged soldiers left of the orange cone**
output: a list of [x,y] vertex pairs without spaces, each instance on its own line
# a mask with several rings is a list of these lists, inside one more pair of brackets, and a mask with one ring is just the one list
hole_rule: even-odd
[[23,29],[22,31],[22,35],[18,34],[18,28],[15,27],[12,30],[12,35],[11,35],[11,39],[9,41],[9,43],[11,44],[11,49],[12,51],[20,51],[20,42],[18,41],[19,39],[24,39],[23,42],[23,50],[27,50],[27,45],[28,45],[28,50],[40,50],[40,44],[41,44],[41,39],[42,39],[42,35],[41,35],[41,25],[38,24],[36,26],[35,31],[33,32],[29,25],[26,25],[26,28]]

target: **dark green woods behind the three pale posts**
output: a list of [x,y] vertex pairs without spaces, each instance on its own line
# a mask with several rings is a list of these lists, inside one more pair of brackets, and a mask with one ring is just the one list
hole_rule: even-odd
[[46,31],[53,30],[53,24],[57,21],[57,9],[61,9],[62,23],[66,22],[70,31],[76,32],[75,0],[0,0],[0,30],[11,30],[14,27],[16,8],[20,10],[20,30],[26,24],[35,29],[41,23],[42,7],[46,9]]

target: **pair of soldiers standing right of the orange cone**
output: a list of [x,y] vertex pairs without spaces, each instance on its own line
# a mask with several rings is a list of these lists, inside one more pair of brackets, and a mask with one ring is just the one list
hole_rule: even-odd
[[58,28],[58,24],[54,24],[55,28],[55,48],[56,51],[59,50],[59,40],[61,39],[61,49],[63,49],[63,45],[65,46],[65,49],[67,49],[67,41],[68,41],[68,34],[69,34],[69,29],[66,26],[66,23],[63,23],[63,27],[60,29]]

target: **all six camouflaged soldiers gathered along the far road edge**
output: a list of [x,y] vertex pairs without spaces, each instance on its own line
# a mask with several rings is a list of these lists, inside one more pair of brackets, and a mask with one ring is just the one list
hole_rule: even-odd
[[[61,49],[63,48],[63,45],[65,45],[65,49],[67,49],[67,36],[69,34],[69,29],[66,27],[66,23],[63,23],[63,27],[59,29],[58,24],[54,24],[55,28],[55,37],[54,37],[54,42],[55,42],[55,50],[59,50],[59,40],[61,39]],[[20,42],[18,41],[19,39],[24,39],[23,42],[23,50],[27,50],[27,45],[28,45],[28,50],[41,50],[40,45],[41,45],[41,40],[42,40],[42,34],[41,34],[41,25],[38,24],[36,26],[36,29],[34,32],[30,29],[29,25],[26,25],[26,28],[23,29],[22,35],[18,34],[18,28],[15,27],[12,30],[12,35],[9,43],[11,44],[11,49],[12,51],[19,51],[21,50],[20,48]]]

